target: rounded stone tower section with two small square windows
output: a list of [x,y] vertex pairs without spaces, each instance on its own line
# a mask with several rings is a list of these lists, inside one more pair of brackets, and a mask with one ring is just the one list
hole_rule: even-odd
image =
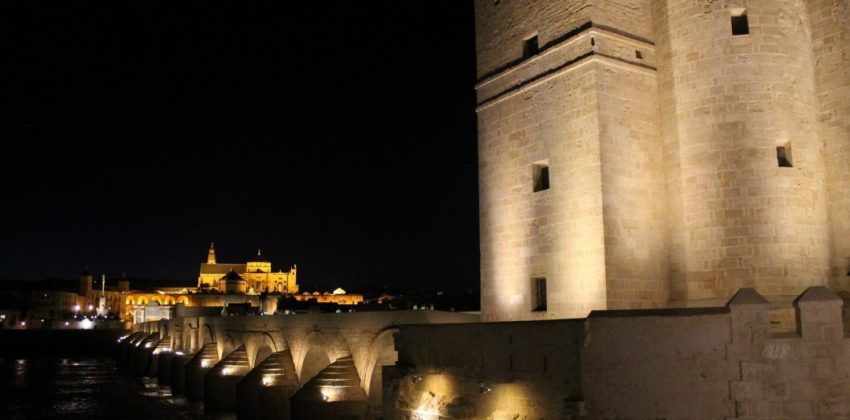
[[[655,5],[674,301],[824,284],[826,172],[805,3]],[[744,7],[749,34],[733,36]],[[779,167],[777,146],[792,168]]]

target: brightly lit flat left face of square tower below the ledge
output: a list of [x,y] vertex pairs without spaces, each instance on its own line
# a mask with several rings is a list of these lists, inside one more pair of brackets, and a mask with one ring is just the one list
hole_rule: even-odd
[[[596,85],[584,65],[478,111],[486,320],[605,307]],[[533,164],[542,160],[552,188],[533,192]],[[533,311],[535,277],[547,279],[547,311]]]

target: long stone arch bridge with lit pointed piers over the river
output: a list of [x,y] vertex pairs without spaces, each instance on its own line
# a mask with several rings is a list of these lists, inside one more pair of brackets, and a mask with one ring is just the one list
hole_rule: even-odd
[[119,343],[119,367],[240,419],[378,418],[381,366],[397,360],[399,326],[477,320],[440,311],[179,317],[137,324]]

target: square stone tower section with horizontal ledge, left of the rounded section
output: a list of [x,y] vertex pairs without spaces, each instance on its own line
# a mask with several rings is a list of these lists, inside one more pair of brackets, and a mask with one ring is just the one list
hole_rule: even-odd
[[664,305],[649,2],[479,1],[476,16],[484,318]]

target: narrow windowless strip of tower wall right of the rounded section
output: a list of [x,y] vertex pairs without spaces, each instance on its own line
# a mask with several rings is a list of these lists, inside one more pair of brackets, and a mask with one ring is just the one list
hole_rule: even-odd
[[826,147],[833,287],[850,290],[850,1],[808,2],[820,134]]

